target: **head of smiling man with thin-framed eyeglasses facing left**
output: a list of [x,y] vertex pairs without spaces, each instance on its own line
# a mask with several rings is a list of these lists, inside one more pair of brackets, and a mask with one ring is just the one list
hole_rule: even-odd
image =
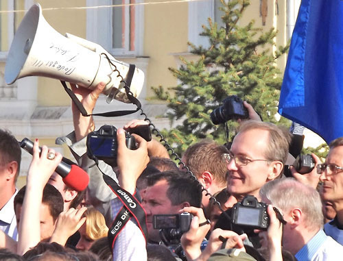
[[260,188],[281,177],[288,147],[289,139],[276,125],[261,121],[242,123],[230,152],[224,155],[228,192],[238,201],[245,195],[259,199]]

